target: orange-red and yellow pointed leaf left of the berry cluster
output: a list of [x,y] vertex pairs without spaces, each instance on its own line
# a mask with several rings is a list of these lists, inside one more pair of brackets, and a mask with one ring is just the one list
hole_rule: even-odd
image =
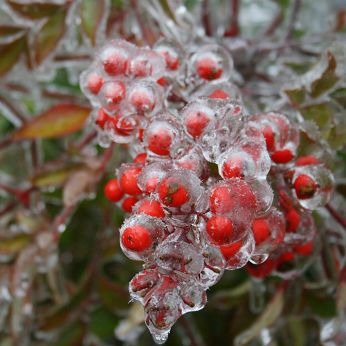
[[82,129],[90,108],[77,104],[58,104],[26,123],[12,135],[13,140],[56,138]]

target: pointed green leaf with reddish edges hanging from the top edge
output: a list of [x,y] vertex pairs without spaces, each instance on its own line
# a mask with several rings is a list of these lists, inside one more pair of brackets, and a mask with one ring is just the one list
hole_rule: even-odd
[[80,6],[81,27],[93,46],[96,44],[98,28],[105,8],[106,3],[104,0],[82,0]]

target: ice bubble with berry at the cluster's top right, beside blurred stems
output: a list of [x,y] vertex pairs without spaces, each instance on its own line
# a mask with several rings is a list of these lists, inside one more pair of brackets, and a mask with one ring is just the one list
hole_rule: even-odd
[[233,59],[218,44],[201,46],[190,60],[190,74],[201,80],[228,80],[233,72]]

